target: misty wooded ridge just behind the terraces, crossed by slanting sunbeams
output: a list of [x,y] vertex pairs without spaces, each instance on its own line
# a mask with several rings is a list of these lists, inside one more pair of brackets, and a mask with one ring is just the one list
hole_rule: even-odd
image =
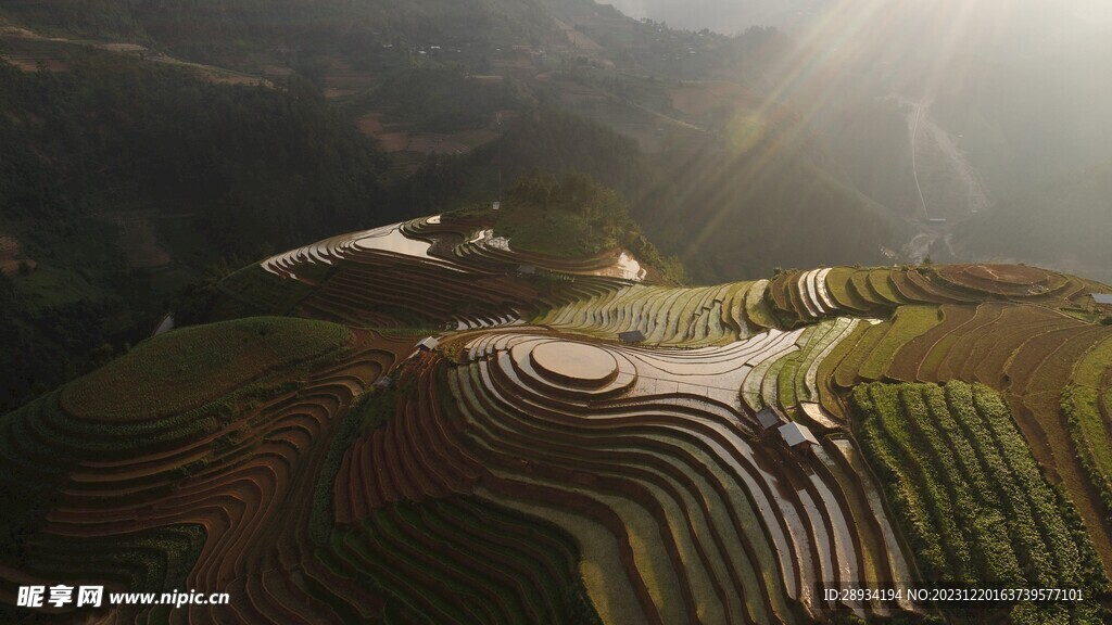
[[886,250],[914,234],[834,173],[843,167],[790,111],[742,109],[737,119],[653,155],[597,122],[542,107],[489,146],[426,161],[409,196],[416,207],[443,210],[497,197],[499,170],[510,180],[533,169],[592,172],[626,198],[661,251],[702,282],[777,267],[890,262],[896,256]]

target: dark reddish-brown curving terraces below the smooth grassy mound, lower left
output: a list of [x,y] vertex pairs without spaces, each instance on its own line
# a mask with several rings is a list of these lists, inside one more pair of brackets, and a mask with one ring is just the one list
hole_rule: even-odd
[[[312,500],[337,415],[410,345],[360,330],[309,374],[278,367],[173,416],[78,418],[64,390],[12,413],[3,420],[3,524],[39,527],[21,544],[26,575],[116,591],[226,588],[244,622],[347,621],[322,607],[331,601],[324,589],[344,585],[311,563],[312,506],[292,503]],[[141,375],[131,371],[131,383]],[[129,384],[127,374],[115,379]],[[43,493],[44,483],[54,490]],[[121,606],[117,617],[145,609]],[[179,616],[227,622],[227,609],[189,606]]]

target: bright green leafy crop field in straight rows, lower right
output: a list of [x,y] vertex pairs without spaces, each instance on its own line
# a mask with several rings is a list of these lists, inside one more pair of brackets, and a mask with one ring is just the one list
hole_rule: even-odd
[[[941,586],[1084,587],[1108,581],[1072,503],[1055,492],[999,395],[983,386],[857,387],[865,454],[886,483],[926,579]],[[1061,606],[1016,605],[1017,623],[1062,617]],[[1070,618],[1102,623],[1099,605]]]

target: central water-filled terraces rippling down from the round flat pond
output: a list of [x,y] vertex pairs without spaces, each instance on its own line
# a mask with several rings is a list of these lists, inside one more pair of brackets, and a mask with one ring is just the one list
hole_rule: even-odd
[[906,571],[881,533],[848,520],[872,513],[848,506],[837,447],[785,457],[738,401],[748,363],[794,345],[784,336],[696,350],[572,343],[612,376],[568,380],[546,349],[565,340],[485,334],[448,374],[466,424],[456,445],[493,474],[478,483],[495,502],[570,508],[573,535],[603,522],[619,549],[584,554],[608,581],[588,584],[596,605],[644,622],[807,622],[832,607],[821,581]]

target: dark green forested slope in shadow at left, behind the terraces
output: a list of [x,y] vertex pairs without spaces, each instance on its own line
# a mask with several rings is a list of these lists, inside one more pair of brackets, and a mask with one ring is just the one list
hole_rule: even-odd
[[[85,53],[67,72],[0,63],[0,229],[38,266],[4,278],[0,407],[149,334],[214,267],[399,218],[374,145],[294,76],[276,88]],[[120,224],[173,262],[130,267]]]

